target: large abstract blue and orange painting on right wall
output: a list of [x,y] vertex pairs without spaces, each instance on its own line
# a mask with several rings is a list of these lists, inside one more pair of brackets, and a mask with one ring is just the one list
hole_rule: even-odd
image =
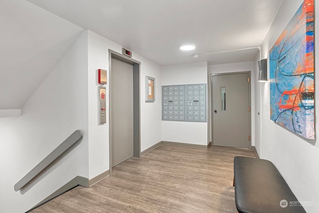
[[315,139],[314,0],[305,0],[269,51],[270,119]]

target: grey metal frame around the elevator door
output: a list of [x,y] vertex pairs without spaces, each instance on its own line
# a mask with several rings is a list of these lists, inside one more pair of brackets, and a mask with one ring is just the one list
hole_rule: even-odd
[[[133,143],[134,157],[141,156],[141,106],[140,106],[140,91],[141,91],[141,62],[134,60],[128,56],[117,53],[109,49],[109,100],[112,101],[112,58],[133,65]],[[112,174],[112,105],[109,104],[109,157],[110,157],[110,175]]]

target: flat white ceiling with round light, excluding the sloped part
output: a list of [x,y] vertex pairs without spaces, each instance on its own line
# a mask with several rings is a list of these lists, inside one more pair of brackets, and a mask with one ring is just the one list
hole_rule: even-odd
[[[252,61],[258,50],[199,56],[260,46],[282,0],[29,0],[161,66]],[[178,47],[197,48],[182,52]]]

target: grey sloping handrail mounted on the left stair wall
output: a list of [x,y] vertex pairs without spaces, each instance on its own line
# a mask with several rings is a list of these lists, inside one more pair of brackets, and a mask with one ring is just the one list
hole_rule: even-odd
[[17,192],[27,183],[29,183],[35,176],[37,176],[43,169],[50,165],[55,159],[68,150],[73,144],[81,140],[83,137],[81,130],[74,131],[68,138],[66,138],[58,147],[56,147],[48,156],[46,156],[38,165],[36,165],[28,174],[26,174],[19,182],[14,185],[14,191]]

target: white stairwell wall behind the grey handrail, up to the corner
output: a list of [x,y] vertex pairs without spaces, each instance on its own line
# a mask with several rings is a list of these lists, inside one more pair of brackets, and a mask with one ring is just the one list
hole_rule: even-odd
[[[83,33],[24,104],[20,117],[0,118],[6,124],[0,128],[1,212],[26,212],[74,177],[88,177],[86,41]],[[83,140],[15,192],[13,186],[76,129]]]

